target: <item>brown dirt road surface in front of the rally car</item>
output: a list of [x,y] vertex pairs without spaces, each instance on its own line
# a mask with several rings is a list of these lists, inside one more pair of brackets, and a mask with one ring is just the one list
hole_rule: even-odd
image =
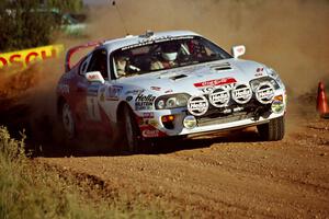
[[328,218],[329,120],[299,122],[283,141],[253,129],[160,143],[152,154],[37,158],[100,178],[109,191],[179,217]]

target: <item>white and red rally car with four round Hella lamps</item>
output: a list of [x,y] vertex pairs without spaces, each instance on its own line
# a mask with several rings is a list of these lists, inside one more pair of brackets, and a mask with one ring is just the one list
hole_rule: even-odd
[[[77,65],[77,50],[94,47]],[[71,48],[57,87],[67,137],[105,131],[143,149],[147,139],[257,126],[263,140],[284,136],[286,92],[277,73],[239,59],[189,31],[152,33]]]

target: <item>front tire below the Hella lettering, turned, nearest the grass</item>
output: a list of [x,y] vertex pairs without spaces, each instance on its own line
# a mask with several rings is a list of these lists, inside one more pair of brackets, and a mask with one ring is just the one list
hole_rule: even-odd
[[122,120],[124,146],[123,149],[131,153],[147,151],[147,142],[143,140],[135,115],[128,106],[123,107]]

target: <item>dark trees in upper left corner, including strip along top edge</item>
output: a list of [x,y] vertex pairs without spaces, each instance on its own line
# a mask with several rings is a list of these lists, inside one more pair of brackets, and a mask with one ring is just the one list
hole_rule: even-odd
[[1,0],[0,53],[47,45],[58,22],[52,11],[79,12],[82,0]]

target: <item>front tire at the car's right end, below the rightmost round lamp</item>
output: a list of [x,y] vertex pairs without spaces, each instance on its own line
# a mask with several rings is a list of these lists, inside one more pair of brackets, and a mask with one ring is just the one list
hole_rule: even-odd
[[270,123],[258,125],[257,129],[262,140],[265,141],[282,140],[285,132],[284,116],[271,119]]

